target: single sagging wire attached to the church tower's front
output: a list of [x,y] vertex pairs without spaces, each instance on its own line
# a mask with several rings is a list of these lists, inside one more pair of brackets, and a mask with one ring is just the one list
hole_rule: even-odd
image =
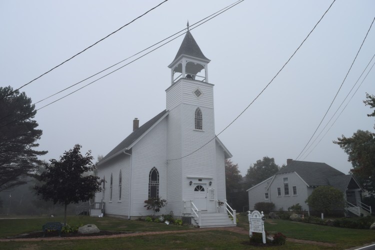
[[[332,4],[335,2],[335,0],[332,1],[332,3],[329,5],[328,9],[325,10],[325,12],[323,13],[323,15],[320,17],[320,19],[316,22],[315,26],[311,29],[311,31],[307,34],[307,36],[303,39],[303,41],[301,42],[301,44],[297,47],[297,49],[295,49],[295,51],[293,52],[293,54],[289,57],[289,59],[284,63],[284,65],[280,68],[280,70],[278,70],[278,72],[273,76],[273,78],[268,82],[267,85],[265,85],[265,87],[260,91],[260,93],[258,93],[258,95],[256,95],[256,97],[250,102],[250,104],[248,104],[245,109],[242,110],[242,112],[240,112],[237,117],[234,118],[234,120],[232,120],[224,129],[222,129],[217,135],[215,135],[212,139],[210,139],[209,141],[207,141],[205,144],[203,144],[202,146],[200,146],[199,148],[195,149],[194,151],[192,151],[191,153],[188,153],[184,156],[181,156],[181,157],[178,157],[178,158],[175,158],[175,159],[169,159],[169,160],[178,160],[178,159],[182,159],[184,157],[187,157],[193,153],[195,153],[196,151],[198,151],[200,148],[202,148],[203,146],[207,145],[209,142],[211,142],[213,139],[215,139],[217,136],[219,136],[223,131],[225,131],[226,128],[228,128],[236,119],[239,118],[239,116],[241,116],[245,111],[246,109],[263,93],[263,91],[269,86],[269,84],[271,84],[271,82],[273,81],[274,78],[276,78],[276,76],[281,72],[281,70],[285,67],[285,65],[290,61],[290,59],[294,56],[294,54],[298,51],[298,49],[302,46],[302,44],[304,43],[304,41],[307,39],[307,37],[312,33],[312,31],[315,29],[315,27],[317,26],[317,24],[321,21],[321,19],[323,19],[324,15],[328,12],[328,10],[330,9],[330,7],[332,6]],[[168,162],[168,160],[167,160]]]

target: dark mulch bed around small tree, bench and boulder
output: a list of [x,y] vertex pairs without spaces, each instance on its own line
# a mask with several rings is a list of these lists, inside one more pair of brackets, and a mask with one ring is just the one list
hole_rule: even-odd
[[[132,233],[132,232],[125,232],[125,231],[100,231],[96,233],[89,233],[89,234],[80,234],[77,232],[61,232],[61,237],[82,237],[82,236],[104,236],[104,235],[114,235],[114,234],[124,234],[124,233]],[[46,232],[44,238],[48,237],[57,237],[58,231],[49,231]],[[43,238],[42,231],[35,231],[35,232],[28,232],[24,234],[20,234],[13,237],[7,238]]]

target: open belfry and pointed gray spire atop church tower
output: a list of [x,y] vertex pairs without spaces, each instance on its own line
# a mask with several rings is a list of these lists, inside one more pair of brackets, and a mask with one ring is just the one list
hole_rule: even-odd
[[[176,56],[172,63],[168,65],[171,69],[171,84],[180,78],[208,82],[207,64],[209,61],[200,50],[190,31],[187,31]],[[201,72],[202,69],[204,69],[204,72]]]

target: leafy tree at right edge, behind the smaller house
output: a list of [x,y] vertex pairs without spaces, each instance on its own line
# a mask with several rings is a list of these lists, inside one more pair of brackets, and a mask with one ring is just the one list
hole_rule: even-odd
[[[367,116],[375,116],[375,95],[366,94],[363,101],[365,105],[374,108],[372,113]],[[375,128],[375,126],[374,126]],[[347,160],[353,166],[350,171],[354,174],[362,187],[375,194],[375,133],[368,130],[357,130],[351,137],[338,137],[338,144],[345,153],[348,154]]]

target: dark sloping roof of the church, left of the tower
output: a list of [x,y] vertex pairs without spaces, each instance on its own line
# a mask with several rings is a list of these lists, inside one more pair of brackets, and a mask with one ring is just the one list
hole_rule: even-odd
[[156,121],[158,121],[164,114],[166,110],[161,111],[155,117],[151,118],[143,125],[135,129],[132,133],[130,133],[124,140],[122,140],[117,146],[115,146],[109,153],[107,153],[100,161],[104,161],[109,157],[113,156],[114,154],[118,153],[119,151],[125,149],[126,147],[130,146],[135,140],[137,140],[145,131],[148,130]]

